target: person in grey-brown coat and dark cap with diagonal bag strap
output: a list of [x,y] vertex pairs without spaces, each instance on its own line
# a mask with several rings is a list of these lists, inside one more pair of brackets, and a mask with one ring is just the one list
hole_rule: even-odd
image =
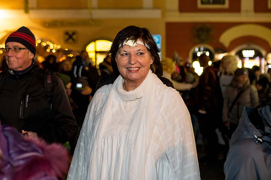
[[250,85],[246,68],[235,71],[232,82],[226,87],[224,95],[223,122],[229,129],[227,136],[230,139],[245,107],[256,107],[259,104],[257,89],[254,85]]

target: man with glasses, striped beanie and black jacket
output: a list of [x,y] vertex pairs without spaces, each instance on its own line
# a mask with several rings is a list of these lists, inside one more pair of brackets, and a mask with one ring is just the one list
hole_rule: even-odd
[[8,70],[0,73],[0,121],[48,143],[72,140],[77,125],[61,79],[34,61],[33,33],[21,27],[6,42]]

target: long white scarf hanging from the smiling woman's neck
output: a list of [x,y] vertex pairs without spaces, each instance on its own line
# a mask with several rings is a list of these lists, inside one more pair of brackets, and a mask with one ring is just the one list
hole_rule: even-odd
[[[129,152],[124,152],[129,154],[129,162],[126,164],[126,168],[128,172],[128,177],[126,179],[145,179],[145,164],[147,160],[147,153],[151,143],[151,138],[154,131],[154,126],[158,119],[158,115],[161,109],[161,106],[164,101],[166,86],[158,79],[158,77],[151,73],[151,70],[148,73],[148,84],[143,92],[141,102],[138,107],[138,113],[133,118],[130,128],[134,129],[129,132],[136,132],[135,134],[128,133],[128,141],[129,144],[126,146],[130,146],[128,149]],[[102,157],[97,155],[101,148],[101,139],[103,136],[104,128],[108,122],[109,114],[112,111],[112,107],[120,106],[120,104],[115,104],[114,98],[118,96],[116,91],[117,82],[122,78],[119,76],[108,95],[107,100],[102,107],[102,111],[100,115],[97,117],[97,126],[95,128],[94,134],[92,136],[90,144],[90,161],[93,158],[97,158],[96,162],[89,162],[91,165],[88,167],[89,170],[95,170],[96,168],[100,169],[102,167]],[[110,117],[109,117],[110,118]],[[138,138],[138,134],[143,137]],[[143,136],[142,136],[143,134]],[[140,147],[140,148],[138,148]],[[93,169],[94,168],[94,169]],[[93,178],[93,177],[92,177]],[[97,177],[96,177],[97,178]],[[98,179],[98,178],[97,178]]]

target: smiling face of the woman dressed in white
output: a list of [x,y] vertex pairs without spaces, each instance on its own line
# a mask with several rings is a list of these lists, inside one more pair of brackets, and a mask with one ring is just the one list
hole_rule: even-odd
[[141,45],[130,48],[123,45],[117,52],[117,67],[122,75],[125,85],[139,86],[146,78],[153,59],[148,49]]

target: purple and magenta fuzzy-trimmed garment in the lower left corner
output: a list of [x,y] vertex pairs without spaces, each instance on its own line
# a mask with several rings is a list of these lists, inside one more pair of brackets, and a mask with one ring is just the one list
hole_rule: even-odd
[[0,179],[58,180],[67,173],[69,153],[61,144],[22,137],[10,127],[3,127],[0,136],[1,149],[7,151],[0,161]]

